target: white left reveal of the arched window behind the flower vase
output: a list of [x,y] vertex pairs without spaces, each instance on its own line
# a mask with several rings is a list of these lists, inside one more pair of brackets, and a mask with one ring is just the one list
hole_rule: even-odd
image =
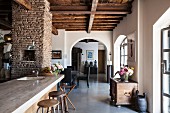
[[[114,43],[114,73],[120,70],[120,44],[125,38],[125,35],[119,35]],[[119,78],[119,75],[117,74],[115,78]]]

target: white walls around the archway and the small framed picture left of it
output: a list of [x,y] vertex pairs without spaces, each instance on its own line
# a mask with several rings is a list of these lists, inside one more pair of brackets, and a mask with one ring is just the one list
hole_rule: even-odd
[[60,61],[64,67],[71,65],[72,48],[77,42],[83,39],[94,39],[102,42],[107,50],[107,60],[109,59],[109,53],[112,53],[112,31],[92,31],[91,33],[87,33],[85,31],[58,30],[58,34],[52,37],[52,48],[53,50],[62,50],[62,59],[52,59],[52,62]]

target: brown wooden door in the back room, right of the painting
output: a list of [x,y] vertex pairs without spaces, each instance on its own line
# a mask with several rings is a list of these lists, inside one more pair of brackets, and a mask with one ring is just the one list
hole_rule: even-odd
[[105,50],[98,50],[98,73],[105,73]]

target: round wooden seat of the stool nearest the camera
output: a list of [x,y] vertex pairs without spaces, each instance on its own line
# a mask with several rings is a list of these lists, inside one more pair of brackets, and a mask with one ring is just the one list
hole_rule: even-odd
[[41,100],[40,102],[38,102],[37,105],[39,107],[49,108],[49,107],[53,107],[55,105],[59,105],[59,102],[54,99],[45,99],[45,100]]

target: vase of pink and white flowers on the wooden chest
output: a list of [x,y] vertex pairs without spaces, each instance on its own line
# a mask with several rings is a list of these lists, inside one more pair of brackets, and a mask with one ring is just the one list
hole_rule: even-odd
[[121,81],[128,82],[129,76],[132,76],[134,73],[133,70],[133,67],[124,66],[121,67],[120,71],[117,71],[115,75],[119,73]]

